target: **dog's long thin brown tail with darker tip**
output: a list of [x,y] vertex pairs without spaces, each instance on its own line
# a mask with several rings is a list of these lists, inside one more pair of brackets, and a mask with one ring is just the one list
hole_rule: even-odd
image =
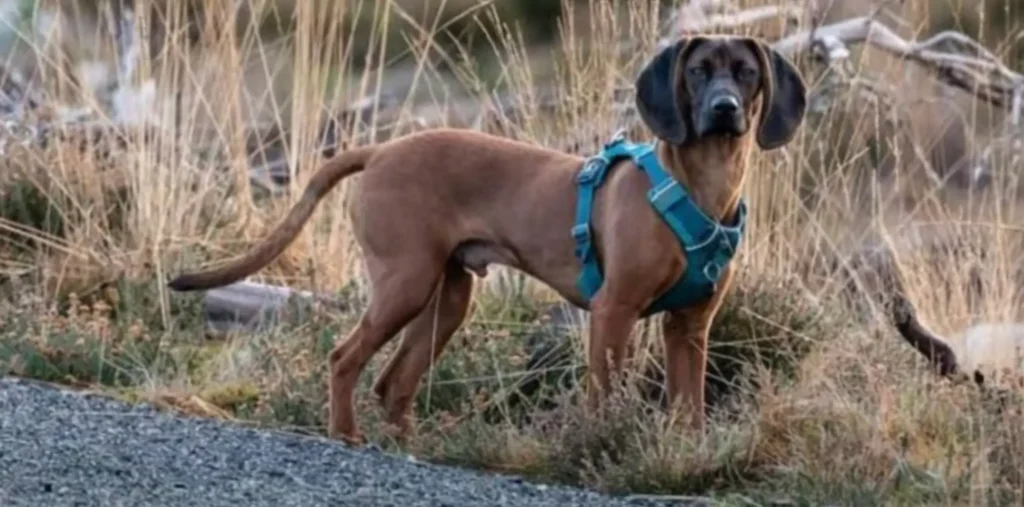
[[302,191],[302,197],[289,210],[288,216],[278,224],[270,236],[253,247],[246,255],[222,267],[181,274],[170,281],[167,284],[168,287],[175,291],[210,289],[232,284],[256,272],[291,245],[324,196],[331,192],[345,176],[361,171],[375,152],[374,146],[362,146],[344,152],[331,159],[309,179],[306,187]]

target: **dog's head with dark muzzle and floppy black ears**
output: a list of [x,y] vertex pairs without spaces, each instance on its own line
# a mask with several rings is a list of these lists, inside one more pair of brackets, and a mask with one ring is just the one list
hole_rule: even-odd
[[637,79],[636,101],[647,127],[670,144],[742,136],[756,123],[767,151],[793,139],[807,88],[793,64],[760,40],[694,36],[654,55]]

